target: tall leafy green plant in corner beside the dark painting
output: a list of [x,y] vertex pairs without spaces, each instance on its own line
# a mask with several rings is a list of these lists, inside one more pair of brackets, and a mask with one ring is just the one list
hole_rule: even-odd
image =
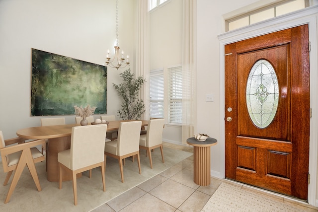
[[113,83],[119,96],[123,98],[121,109],[118,110],[119,117],[123,120],[140,119],[145,113],[145,104],[143,99],[139,99],[139,90],[146,82],[143,76],[135,78],[135,74],[130,69],[119,74],[123,82],[116,85]]

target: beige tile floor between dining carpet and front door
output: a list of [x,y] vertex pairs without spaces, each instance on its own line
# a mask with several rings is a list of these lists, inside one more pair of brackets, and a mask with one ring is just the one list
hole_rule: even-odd
[[[164,142],[163,145],[193,152],[192,147],[167,142]],[[242,189],[248,189],[286,204],[292,204],[303,211],[318,211],[318,208],[306,203],[229,180],[211,177],[210,186],[199,186],[193,182],[193,156],[191,156],[92,212],[200,212],[222,182],[240,186]]]

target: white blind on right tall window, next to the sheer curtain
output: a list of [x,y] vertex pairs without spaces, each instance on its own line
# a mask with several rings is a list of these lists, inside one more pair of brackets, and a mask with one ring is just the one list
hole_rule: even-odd
[[169,123],[182,124],[182,66],[169,72]]

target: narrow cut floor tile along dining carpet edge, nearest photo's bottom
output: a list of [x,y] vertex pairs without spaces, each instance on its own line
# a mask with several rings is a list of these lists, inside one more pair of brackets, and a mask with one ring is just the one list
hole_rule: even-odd
[[145,194],[146,194],[145,191],[143,191],[142,189],[138,187],[135,187],[119,195],[118,197],[108,201],[107,205],[110,206],[116,212],[118,212]]

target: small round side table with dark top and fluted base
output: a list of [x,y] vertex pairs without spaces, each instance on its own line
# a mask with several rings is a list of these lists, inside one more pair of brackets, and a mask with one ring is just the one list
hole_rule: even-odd
[[194,137],[187,139],[187,143],[193,146],[193,178],[200,186],[208,186],[211,183],[211,146],[218,141],[208,138],[206,141],[197,141]]

